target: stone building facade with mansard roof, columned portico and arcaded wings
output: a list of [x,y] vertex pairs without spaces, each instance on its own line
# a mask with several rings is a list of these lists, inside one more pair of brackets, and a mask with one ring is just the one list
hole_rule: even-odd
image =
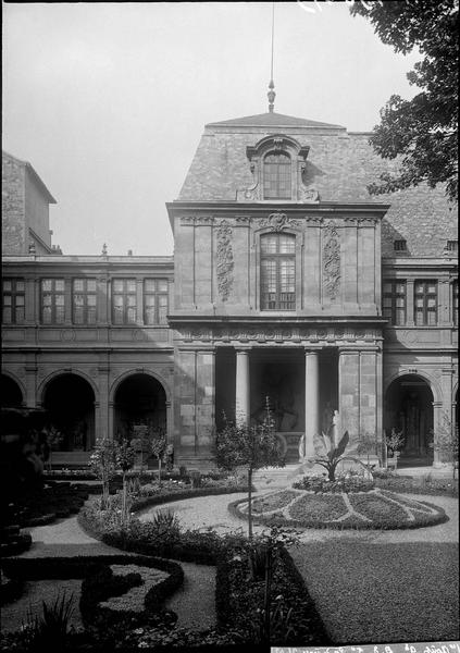
[[209,467],[222,416],[256,422],[266,397],[287,463],[334,416],[351,451],[395,429],[403,457],[438,464],[433,433],[458,422],[456,218],[443,188],[370,196],[394,165],[339,125],[207,125],[166,205],[174,257],[4,255],[5,401],[48,409],[66,464],[148,424]]

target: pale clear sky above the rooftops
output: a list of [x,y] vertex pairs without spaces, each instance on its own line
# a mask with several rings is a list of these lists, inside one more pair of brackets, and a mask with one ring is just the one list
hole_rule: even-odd
[[[397,54],[349,3],[275,2],[275,111],[365,132]],[[3,149],[58,204],[69,255],[173,254],[177,198],[203,126],[268,111],[271,2],[4,3]]]

